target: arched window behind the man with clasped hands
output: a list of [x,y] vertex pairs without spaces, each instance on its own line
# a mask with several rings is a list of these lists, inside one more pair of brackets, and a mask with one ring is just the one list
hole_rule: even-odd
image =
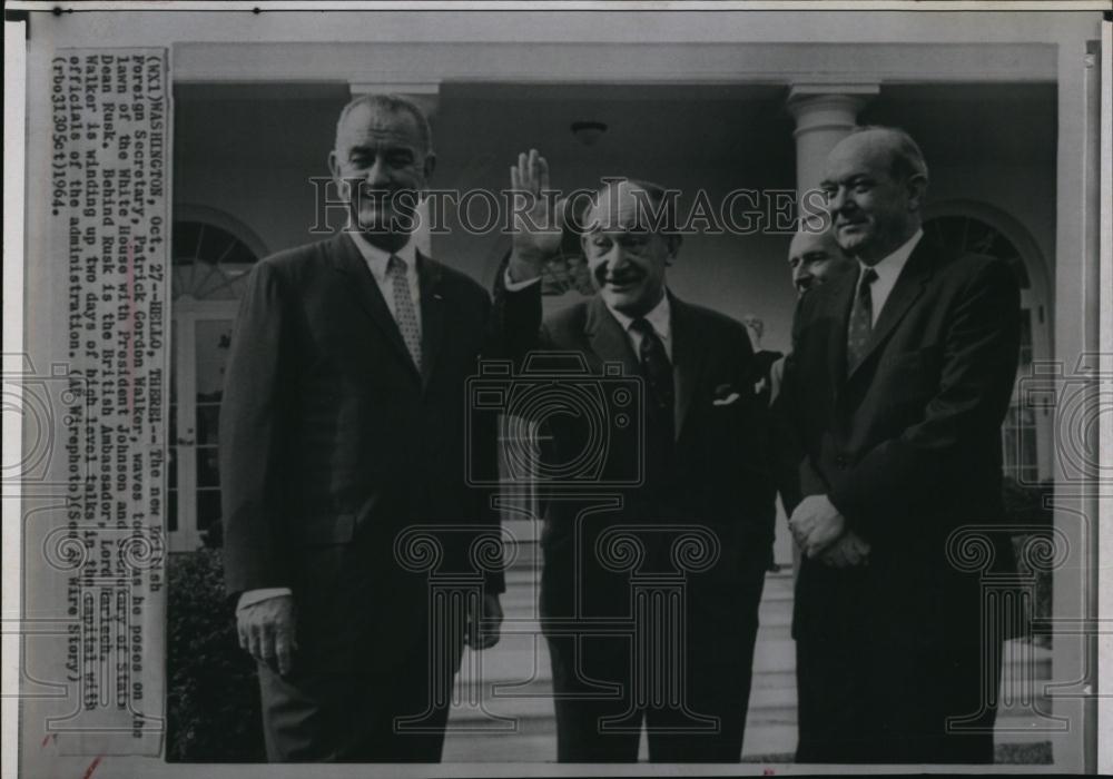
[[[1033,363],[1051,359],[1047,273],[1027,231],[991,206],[954,201],[929,210],[924,233],[957,254],[976,253],[1005,260],[1021,287],[1017,378],[1032,375]],[[1014,386],[1002,426],[1004,471],[1020,484],[1037,484],[1052,477],[1051,408],[1023,401]]]

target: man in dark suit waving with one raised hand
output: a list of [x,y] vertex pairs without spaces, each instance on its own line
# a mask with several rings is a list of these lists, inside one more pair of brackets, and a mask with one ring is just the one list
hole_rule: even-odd
[[[536,207],[495,294],[511,353],[533,352],[530,366],[549,358],[553,371],[571,355],[607,377],[604,394],[620,376],[643,389],[640,406],[614,393],[601,408],[610,437],[594,483],[564,494],[558,473],[542,485],[551,489],[540,610],[558,759],[637,760],[644,723],[652,761],[738,761],[775,515],[746,328],[668,290],[674,215],[663,190],[628,179],[611,180],[584,215],[595,295],[542,323],[536,278],[560,241],[543,229],[544,158],[523,155],[512,179]],[[558,377],[558,402],[560,386]],[[590,417],[546,417],[554,473],[592,461]]]

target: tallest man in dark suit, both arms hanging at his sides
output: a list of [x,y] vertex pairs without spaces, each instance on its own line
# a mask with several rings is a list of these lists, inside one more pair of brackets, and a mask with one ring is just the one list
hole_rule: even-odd
[[439,760],[461,635],[498,640],[498,571],[465,613],[430,603],[430,578],[469,573],[492,541],[465,484],[465,448],[485,445],[464,437],[490,300],[411,240],[434,161],[414,103],[348,103],[329,156],[348,228],[259,262],[242,300],[220,420],[225,566],[270,760]]

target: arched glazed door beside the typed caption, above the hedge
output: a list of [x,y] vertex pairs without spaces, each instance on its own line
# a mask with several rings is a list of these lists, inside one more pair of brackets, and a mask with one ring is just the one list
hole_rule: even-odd
[[171,551],[189,551],[219,524],[217,430],[224,368],[239,297],[262,241],[226,214],[175,206],[170,368]]

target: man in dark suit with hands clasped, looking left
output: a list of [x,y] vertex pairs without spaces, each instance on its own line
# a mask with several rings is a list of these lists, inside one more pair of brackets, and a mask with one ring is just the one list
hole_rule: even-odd
[[1017,285],[923,234],[905,132],[851,134],[823,187],[858,267],[804,295],[782,393],[804,448],[797,760],[992,762],[1002,639],[955,532],[1003,513]]

